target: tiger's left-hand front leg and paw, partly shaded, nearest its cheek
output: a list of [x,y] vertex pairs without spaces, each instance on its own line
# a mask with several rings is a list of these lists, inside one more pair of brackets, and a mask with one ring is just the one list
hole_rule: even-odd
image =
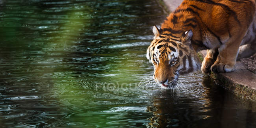
[[213,49],[207,50],[207,54],[204,57],[204,61],[202,62],[202,66],[201,66],[201,71],[204,74],[211,72],[211,65],[213,65],[213,63],[217,59],[218,54],[219,54],[218,48],[216,48],[215,50]]

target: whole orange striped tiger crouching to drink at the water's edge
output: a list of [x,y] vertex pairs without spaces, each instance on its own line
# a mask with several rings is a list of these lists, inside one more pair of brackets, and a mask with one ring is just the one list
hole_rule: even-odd
[[[237,56],[256,51],[255,23],[255,0],[184,0],[161,28],[152,28],[147,59],[154,65],[155,82],[170,88],[179,75],[199,69],[233,72]],[[207,50],[202,63],[200,50]]]

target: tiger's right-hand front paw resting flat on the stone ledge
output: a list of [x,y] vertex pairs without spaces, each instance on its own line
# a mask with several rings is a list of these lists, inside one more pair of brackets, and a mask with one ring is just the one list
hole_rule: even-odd
[[211,71],[214,73],[219,73],[219,72],[233,72],[235,69],[234,64],[229,64],[229,63],[214,63],[211,65]]

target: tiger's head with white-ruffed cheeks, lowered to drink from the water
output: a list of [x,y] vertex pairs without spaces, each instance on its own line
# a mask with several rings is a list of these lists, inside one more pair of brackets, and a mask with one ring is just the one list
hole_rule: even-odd
[[154,65],[154,80],[163,88],[176,85],[180,74],[200,69],[197,53],[191,45],[192,30],[180,34],[164,33],[153,26],[154,40],[147,49],[147,59]]

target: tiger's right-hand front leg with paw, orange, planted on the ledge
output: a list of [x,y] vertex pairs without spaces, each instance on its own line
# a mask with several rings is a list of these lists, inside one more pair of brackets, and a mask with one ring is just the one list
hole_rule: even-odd
[[234,35],[233,39],[230,39],[219,48],[219,55],[216,61],[211,65],[211,71],[214,73],[218,72],[233,72],[236,65],[236,57],[239,50],[239,46],[245,35],[245,31]]

